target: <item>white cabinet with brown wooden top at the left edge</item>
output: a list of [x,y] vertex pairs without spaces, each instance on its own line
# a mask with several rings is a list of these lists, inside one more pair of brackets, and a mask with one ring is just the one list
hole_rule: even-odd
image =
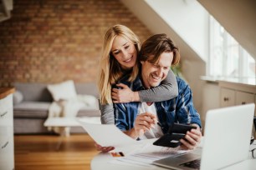
[[0,169],[14,169],[13,88],[0,88]]

